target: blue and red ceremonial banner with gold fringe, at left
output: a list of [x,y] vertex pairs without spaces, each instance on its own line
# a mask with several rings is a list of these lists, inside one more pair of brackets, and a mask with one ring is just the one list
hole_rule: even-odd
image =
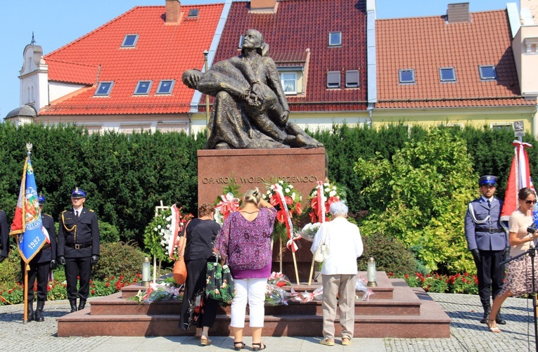
[[49,242],[49,233],[41,221],[34,169],[30,161],[30,152],[28,154],[23,169],[23,180],[20,182],[15,216],[9,233],[17,239],[20,257],[25,263],[32,260],[45,242]]

